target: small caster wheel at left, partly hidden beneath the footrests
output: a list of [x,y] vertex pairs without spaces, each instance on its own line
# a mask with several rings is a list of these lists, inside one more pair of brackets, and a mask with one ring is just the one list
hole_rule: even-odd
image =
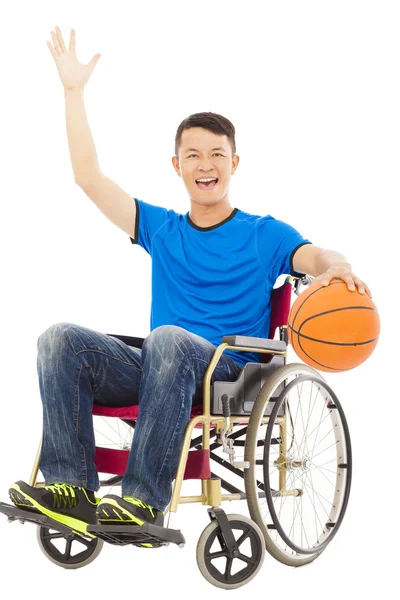
[[48,527],[37,528],[42,552],[51,562],[64,569],[78,569],[93,562],[100,554],[103,540],[71,533],[69,536]]

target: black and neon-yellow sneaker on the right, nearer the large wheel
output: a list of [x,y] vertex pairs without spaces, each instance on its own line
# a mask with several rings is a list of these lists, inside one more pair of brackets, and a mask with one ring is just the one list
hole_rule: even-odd
[[[150,523],[159,527],[164,526],[164,513],[133,496],[115,496],[107,494],[101,498],[97,506],[97,518],[102,525],[132,525],[140,527],[143,523]],[[138,543],[138,546],[157,548],[162,544]]]

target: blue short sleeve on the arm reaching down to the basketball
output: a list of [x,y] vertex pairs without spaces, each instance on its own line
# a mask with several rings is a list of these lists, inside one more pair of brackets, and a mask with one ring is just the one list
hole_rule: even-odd
[[261,264],[277,279],[279,275],[303,277],[306,273],[293,270],[293,257],[304,244],[311,244],[294,227],[274,219],[261,217],[257,227],[257,244]]

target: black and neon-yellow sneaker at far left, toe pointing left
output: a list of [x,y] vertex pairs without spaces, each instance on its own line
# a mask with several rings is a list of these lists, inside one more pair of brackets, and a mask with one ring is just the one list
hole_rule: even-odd
[[41,513],[77,533],[95,537],[87,531],[88,525],[97,523],[96,507],[100,498],[95,498],[94,492],[66,483],[33,487],[17,481],[8,493],[15,506]]

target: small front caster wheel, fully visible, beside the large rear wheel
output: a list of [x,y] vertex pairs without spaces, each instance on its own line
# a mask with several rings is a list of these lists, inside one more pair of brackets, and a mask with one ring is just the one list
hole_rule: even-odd
[[265,545],[260,528],[249,517],[234,514],[226,517],[238,543],[239,556],[229,556],[221,528],[214,519],[199,538],[196,558],[201,574],[209,583],[230,590],[245,585],[257,575],[264,561]]

